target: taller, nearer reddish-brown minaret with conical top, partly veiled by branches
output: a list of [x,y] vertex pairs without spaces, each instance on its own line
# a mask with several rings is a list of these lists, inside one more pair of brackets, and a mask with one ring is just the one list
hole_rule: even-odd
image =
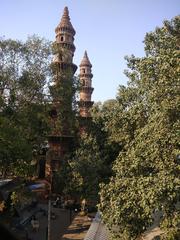
[[50,114],[51,134],[48,137],[48,161],[52,171],[57,171],[70,151],[72,141],[72,84],[77,66],[73,63],[75,51],[75,30],[70,22],[68,8],[64,12],[60,23],[55,29],[54,59],[52,71],[53,85],[50,88],[52,106]]

